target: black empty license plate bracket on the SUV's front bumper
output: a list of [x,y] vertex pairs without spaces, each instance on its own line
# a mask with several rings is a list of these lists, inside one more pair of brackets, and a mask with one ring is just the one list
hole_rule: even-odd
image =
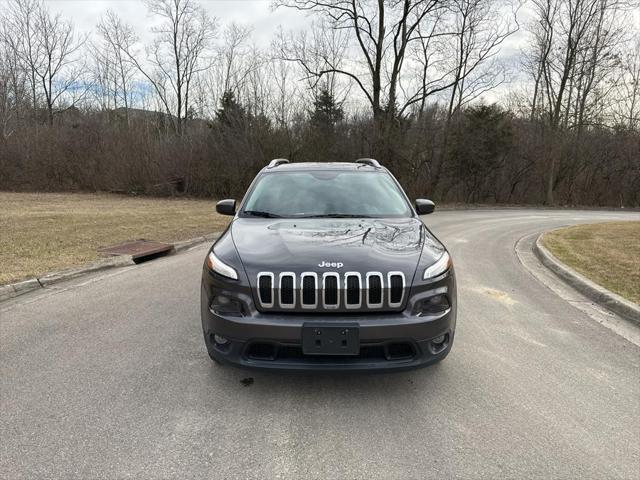
[[302,325],[305,355],[358,355],[360,326],[357,323],[305,322]]

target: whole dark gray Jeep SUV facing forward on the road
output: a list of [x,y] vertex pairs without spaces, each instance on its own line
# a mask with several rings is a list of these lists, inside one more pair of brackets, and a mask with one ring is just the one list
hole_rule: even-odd
[[211,358],[277,370],[386,371],[444,359],[456,324],[445,247],[373,159],[273,160],[205,260]]

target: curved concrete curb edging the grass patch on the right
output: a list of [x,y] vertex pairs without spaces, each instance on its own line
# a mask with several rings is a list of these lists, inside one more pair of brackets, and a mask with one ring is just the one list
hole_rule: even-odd
[[640,326],[640,306],[601,287],[560,262],[560,260],[554,257],[553,254],[542,245],[543,236],[544,233],[540,234],[536,239],[533,245],[533,252],[545,267],[593,302]]

